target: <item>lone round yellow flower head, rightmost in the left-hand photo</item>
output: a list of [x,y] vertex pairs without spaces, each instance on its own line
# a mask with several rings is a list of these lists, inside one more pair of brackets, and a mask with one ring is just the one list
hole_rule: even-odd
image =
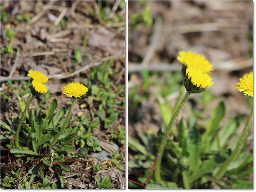
[[88,92],[88,88],[80,82],[70,82],[62,89],[62,92],[67,97],[81,97]]

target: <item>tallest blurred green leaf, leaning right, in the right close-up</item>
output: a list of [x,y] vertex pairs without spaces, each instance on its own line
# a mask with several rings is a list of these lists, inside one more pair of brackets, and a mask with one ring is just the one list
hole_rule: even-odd
[[205,133],[202,135],[203,146],[205,147],[205,151],[209,151],[210,142],[213,138],[215,131],[219,128],[219,123],[225,115],[225,105],[223,101],[221,101],[215,109],[211,112],[211,119],[207,122],[205,127]]

